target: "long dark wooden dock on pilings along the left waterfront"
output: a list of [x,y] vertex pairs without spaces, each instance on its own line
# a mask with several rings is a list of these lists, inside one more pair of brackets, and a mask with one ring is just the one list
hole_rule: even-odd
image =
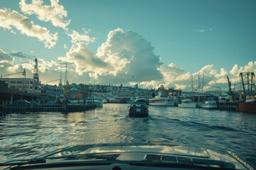
[[96,108],[95,104],[68,104],[60,105],[41,105],[41,106],[0,106],[0,113],[36,113],[36,112],[82,112]]

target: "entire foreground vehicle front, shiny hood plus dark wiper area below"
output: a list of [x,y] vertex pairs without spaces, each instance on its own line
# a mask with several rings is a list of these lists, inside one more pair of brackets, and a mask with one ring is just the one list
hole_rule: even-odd
[[72,169],[73,166],[79,166],[78,169],[114,169],[116,166],[119,169],[254,169],[237,155],[223,149],[151,142],[66,147],[41,157],[14,160],[0,166],[22,169]]

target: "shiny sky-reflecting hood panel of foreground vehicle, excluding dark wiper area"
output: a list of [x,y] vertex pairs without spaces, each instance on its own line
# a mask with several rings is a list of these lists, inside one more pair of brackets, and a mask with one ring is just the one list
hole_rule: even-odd
[[158,144],[99,144],[71,147],[55,153],[54,157],[72,154],[115,154],[119,161],[193,162],[220,161],[234,165],[235,169],[254,169],[233,152],[203,147]]

